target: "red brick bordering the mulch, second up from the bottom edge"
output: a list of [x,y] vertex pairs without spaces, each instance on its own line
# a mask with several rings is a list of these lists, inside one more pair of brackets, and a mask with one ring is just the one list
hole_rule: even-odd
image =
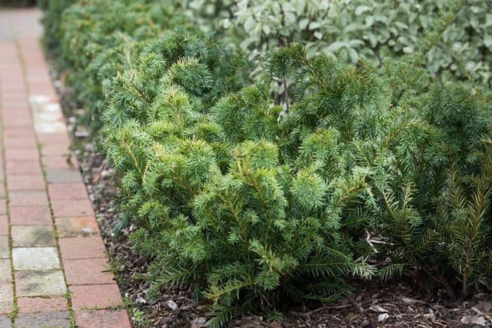
[[70,286],[70,291],[74,310],[115,308],[123,305],[117,284]]

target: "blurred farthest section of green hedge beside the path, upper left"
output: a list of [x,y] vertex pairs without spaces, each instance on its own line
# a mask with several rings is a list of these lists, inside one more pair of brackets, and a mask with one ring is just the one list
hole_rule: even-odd
[[139,41],[179,25],[170,1],[79,1],[60,22],[62,60],[70,63],[69,83],[86,107],[82,124],[101,128],[108,84],[116,72],[134,65]]

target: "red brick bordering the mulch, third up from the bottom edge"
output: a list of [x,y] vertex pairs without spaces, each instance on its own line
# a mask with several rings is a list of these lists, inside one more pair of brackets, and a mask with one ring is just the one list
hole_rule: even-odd
[[105,258],[64,260],[67,284],[112,284],[115,276],[110,272],[110,264]]

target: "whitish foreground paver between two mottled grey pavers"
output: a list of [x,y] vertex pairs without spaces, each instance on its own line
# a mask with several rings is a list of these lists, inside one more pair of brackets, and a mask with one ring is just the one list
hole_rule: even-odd
[[56,247],[25,247],[12,250],[14,270],[60,269]]

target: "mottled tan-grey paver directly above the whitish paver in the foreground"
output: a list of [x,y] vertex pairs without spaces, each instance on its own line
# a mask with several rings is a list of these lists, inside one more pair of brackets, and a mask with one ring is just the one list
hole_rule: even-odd
[[56,246],[55,232],[48,225],[14,225],[11,234],[13,247]]

